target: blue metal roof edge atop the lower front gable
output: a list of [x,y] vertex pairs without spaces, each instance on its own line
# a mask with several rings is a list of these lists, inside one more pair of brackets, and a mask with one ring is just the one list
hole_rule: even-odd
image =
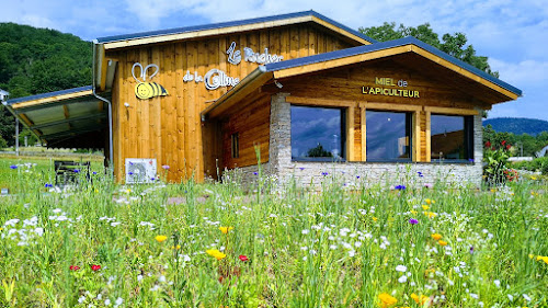
[[375,43],[372,45],[363,45],[363,46],[357,46],[357,47],[352,47],[352,48],[346,48],[346,49],[341,49],[336,52],[331,52],[331,53],[324,53],[324,54],[319,54],[315,56],[309,56],[309,57],[302,57],[302,58],[295,58],[290,60],[284,60],[279,62],[273,62],[273,64],[267,64],[265,65],[266,71],[277,71],[282,69],[287,69],[287,68],[294,68],[294,67],[299,67],[304,65],[311,65],[311,64],[317,64],[317,62],[322,62],[322,61],[328,61],[328,60],[334,60],[334,59],[340,59],[340,58],[345,58],[350,56],[356,56],[359,54],[366,54],[366,53],[372,53],[372,52],[377,52],[377,50],[383,50],[383,49],[388,49],[388,48],[393,48],[393,47],[399,47],[399,46],[406,46],[406,45],[415,45],[418,47],[421,47],[422,49],[436,55],[437,57],[441,57],[465,70],[468,70],[486,80],[489,80],[493,82],[494,84],[509,90],[510,92],[513,92],[517,95],[522,95],[522,90],[513,87],[512,84],[509,84],[502,80],[500,80],[496,77],[493,77],[465,61],[461,61],[453,56],[447,55],[446,53],[421,42],[418,38],[414,38],[412,36],[399,38],[399,39],[393,39],[393,41],[388,41],[388,42],[379,42]]

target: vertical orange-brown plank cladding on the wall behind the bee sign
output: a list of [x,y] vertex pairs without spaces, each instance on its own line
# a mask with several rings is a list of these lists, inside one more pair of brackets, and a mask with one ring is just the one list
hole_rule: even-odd
[[[125,158],[156,158],[159,166],[170,166],[169,181],[189,179],[192,174],[197,181],[204,179],[207,168],[203,138],[212,135],[203,134],[199,113],[229,88],[207,90],[204,82],[183,82],[183,77],[187,71],[203,77],[216,68],[229,77],[243,79],[259,65],[243,59],[239,65],[229,64],[226,52],[232,42],[242,54],[243,47],[250,47],[255,53],[264,53],[264,48],[269,48],[269,54],[281,55],[284,59],[355,46],[311,24],[300,24],[109,52],[106,57],[118,61],[112,99],[114,164],[118,180],[124,176]],[[144,67],[158,65],[159,72],[150,81],[161,84],[169,95],[137,99],[135,85],[138,82],[132,75],[135,62]],[[149,76],[151,73],[152,69],[148,71]],[[210,168],[212,158],[206,160]]]

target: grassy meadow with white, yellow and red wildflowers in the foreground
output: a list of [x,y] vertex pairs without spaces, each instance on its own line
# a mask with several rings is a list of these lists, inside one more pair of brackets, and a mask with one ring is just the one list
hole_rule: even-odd
[[0,161],[0,307],[548,307],[546,181],[59,190],[31,162]]

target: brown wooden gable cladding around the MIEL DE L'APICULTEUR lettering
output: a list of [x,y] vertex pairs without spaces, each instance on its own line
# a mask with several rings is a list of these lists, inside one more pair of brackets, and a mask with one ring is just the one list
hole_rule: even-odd
[[[406,57],[410,61],[412,58]],[[284,84],[284,92],[293,96],[321,98],[330,100],[345,100],[354,102],[375,102],[407,105],[430,105],[441,107],[473,109],[476,106],[490,109],[490,96],[471,94],[479,91],[476,88],[465,87],[464,80],[456,79],[456,73],[432,69],[435,64],[418,69],[414,65],[407,66],[398,56],[387,59],[372,60],[353,66],[315,72],[298,78],[279,80]],[[434,72],[432,72],[432,71]],[[404,80],[408,87],[389,87],[376,84],[376,78],[391,78],[393,82]],[[389,88],[393,90],[418,91],[420,98],[391,96],[381,94],[364,94],[363,87]],[[488,93],[486,93],[488,95]]]

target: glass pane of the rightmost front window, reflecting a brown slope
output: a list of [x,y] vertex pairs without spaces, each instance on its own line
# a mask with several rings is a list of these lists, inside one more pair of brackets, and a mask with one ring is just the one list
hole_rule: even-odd
[[466,159],[465,117],[456,115],[432,115],[431,158]]

